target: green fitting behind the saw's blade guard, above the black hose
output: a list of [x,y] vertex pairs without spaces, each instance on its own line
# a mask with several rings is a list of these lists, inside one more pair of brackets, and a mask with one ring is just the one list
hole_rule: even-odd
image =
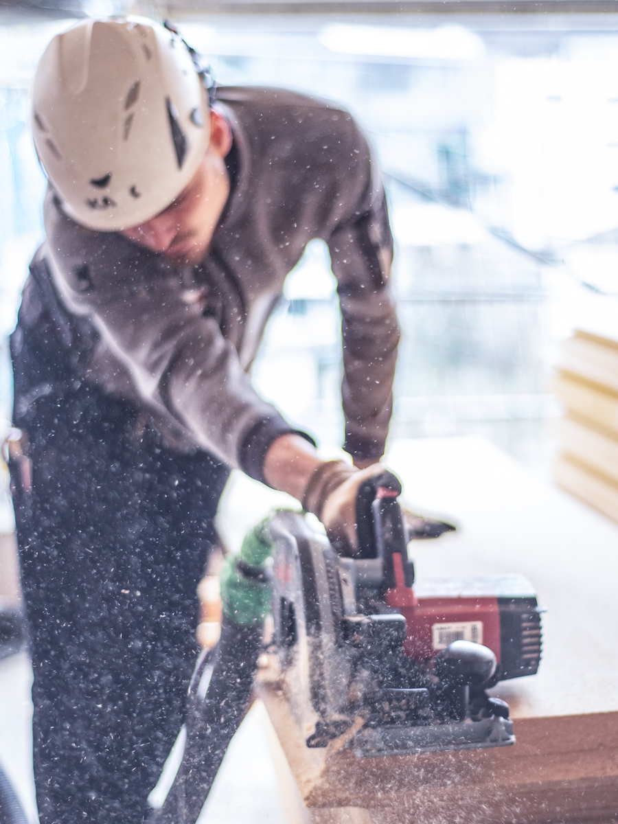
[[223,615],[241,626],[261,627],[270,612],[267,561],[274,550],[269,518],[247,532],[238,555],[228,555],[221,573]]

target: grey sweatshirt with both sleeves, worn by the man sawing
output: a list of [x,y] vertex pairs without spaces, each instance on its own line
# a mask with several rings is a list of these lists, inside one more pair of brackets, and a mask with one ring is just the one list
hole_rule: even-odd
[[293,428],[248,372],[286,275],[321,238],[343,318],[344,448],[378,458],[399,330],[386,201],[368,143],[347,112],[290,91],[221,88],[215,105],[232,127],[232,188],[202,263],[179,268],[117,232],[92,232],[49,190],[21,335],[35,332],[33,302],[53,292],[82,330],[91,327],[94,344],[72,361],[80,381],[136,400],[176,447],[205,448],[263,480],[270,443]]

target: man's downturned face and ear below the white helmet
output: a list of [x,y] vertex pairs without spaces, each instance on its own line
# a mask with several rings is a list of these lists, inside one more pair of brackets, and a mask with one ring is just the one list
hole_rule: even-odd
[[162,213],[122,234],[169,260],[191,265],[204,258],[221,217],[230,181],[223,158],[232,146],[227,121],[210,113],[210,143],[190,184]]

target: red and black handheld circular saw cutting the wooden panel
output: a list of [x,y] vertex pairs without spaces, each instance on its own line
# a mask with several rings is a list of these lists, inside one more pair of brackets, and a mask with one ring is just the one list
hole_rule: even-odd
[[487,691],[537,671],[536,594],[521,575],[414,587],[409,539],[442,530],[410,536],[400,492],[389,472],[359,490],[351,557],[301,513],[269,521],[274,652],[307,747],[342,736],[358,756],[511,745],[508,705]]

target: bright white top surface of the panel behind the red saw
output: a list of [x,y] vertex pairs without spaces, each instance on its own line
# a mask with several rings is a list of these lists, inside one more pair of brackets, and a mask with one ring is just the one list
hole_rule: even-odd
[[459,526],[411,545],[419,579],[522,573],[547,607],[538,674],[494,690],[513,717],[618,710],[618,526],[483,438],[399,441],[387,462],[410,505]]

